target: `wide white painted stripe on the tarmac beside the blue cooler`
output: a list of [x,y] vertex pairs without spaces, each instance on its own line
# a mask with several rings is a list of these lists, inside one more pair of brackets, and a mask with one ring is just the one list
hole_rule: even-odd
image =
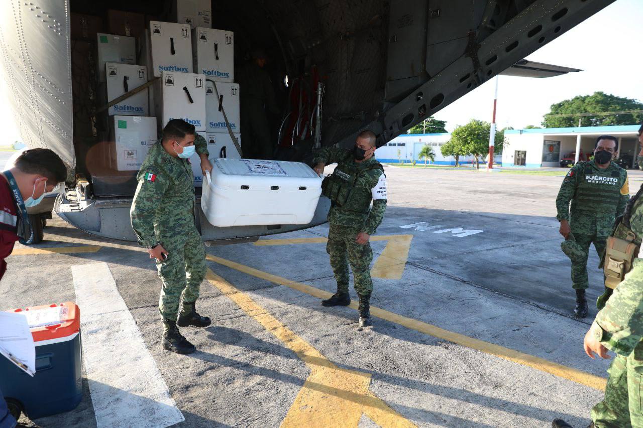
[[107,263],[75,265],[71,273],[98,428],[164,428],[183,422]]

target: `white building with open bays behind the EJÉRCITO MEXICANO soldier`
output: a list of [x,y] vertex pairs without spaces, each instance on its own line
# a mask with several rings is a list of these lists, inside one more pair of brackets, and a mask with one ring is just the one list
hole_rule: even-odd
[[575,127],[505,130],[503,168],[541,168],[574,163],[576,144],[580,141],[579,160],[592,156],[596,138],[611,135],[619,139],[617,157],[633,167],[640,148],[637,133],[640,125],[612,127]]

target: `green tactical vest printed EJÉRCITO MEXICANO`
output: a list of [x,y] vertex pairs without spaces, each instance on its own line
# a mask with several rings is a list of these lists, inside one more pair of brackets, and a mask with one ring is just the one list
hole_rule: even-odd
[[[611,168],[609,168],[611,169]],[[613,213],[619,204],[624,180],[620,170],[599,172],[586,164],[574,195],[574,208],[594,213]]]

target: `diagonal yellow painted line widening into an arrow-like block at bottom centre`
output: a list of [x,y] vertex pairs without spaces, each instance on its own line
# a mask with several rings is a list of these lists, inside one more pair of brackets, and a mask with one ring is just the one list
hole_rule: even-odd
[[368,390],[371,373],[339,368],[211,269],[206,279],[311,369],[282,427],[357,427],[362,414],[381,427],[415,427]]

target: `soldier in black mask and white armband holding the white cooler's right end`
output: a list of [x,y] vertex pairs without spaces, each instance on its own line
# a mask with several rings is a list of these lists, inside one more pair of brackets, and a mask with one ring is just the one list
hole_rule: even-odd
[[359,134],[352,150],[327,147],[314,157],[317,164],[314,170],[320,175],[325,165],[338,164],[322,184],[324,195],[332,201],[328,213],[330,228],[326,251],[337,280],[337,292],[321,304],[350,304],[350,263],[359,296],[360,327],[370,325],[370,294],[373,291],[370,262],[373,251],[368,240],[382,222],[386,210],[386,175],[373,157],[375,143],[375,134],[364,131]]

